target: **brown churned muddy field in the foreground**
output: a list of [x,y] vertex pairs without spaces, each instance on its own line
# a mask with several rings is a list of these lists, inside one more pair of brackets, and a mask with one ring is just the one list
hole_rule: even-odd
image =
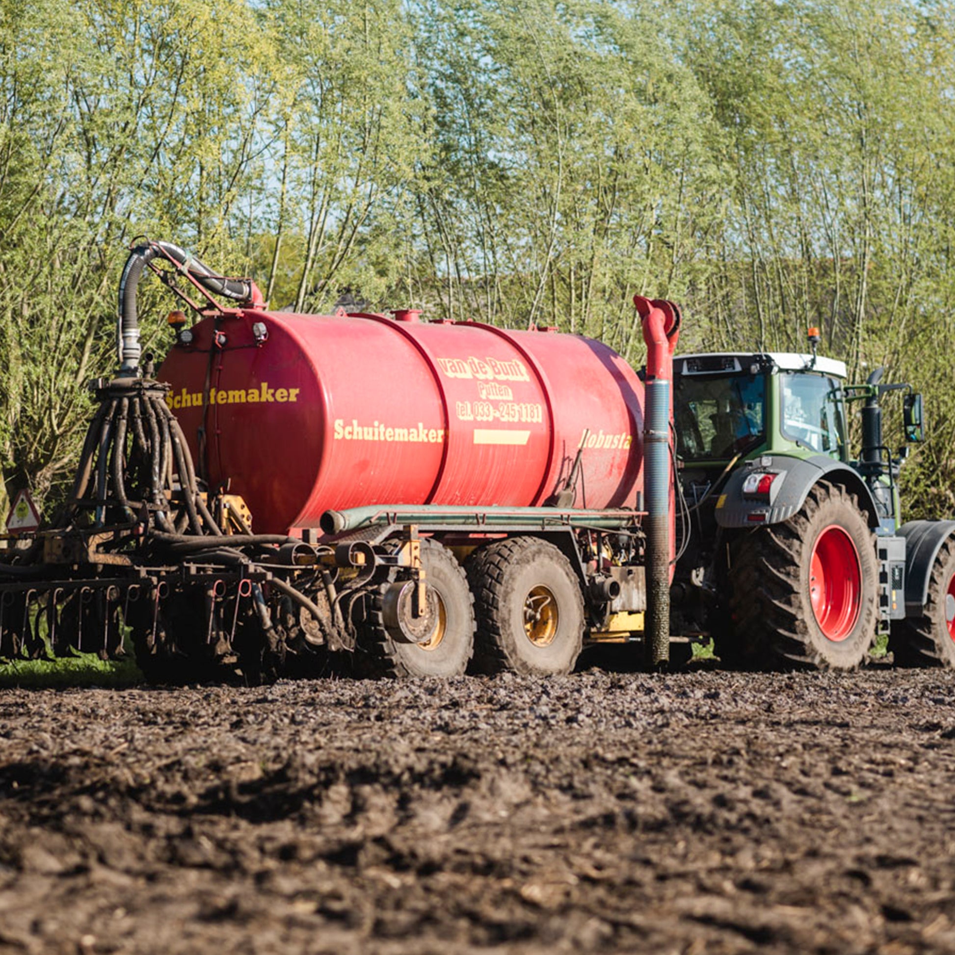
[[955,674],[0,693],[0,951],[955,950]]

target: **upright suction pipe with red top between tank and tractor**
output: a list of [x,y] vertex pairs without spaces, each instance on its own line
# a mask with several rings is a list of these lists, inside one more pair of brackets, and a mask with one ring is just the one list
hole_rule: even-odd
[[647,343],[644,417],[644,489],[647,500],[647,662],[669,661],[669,582],[676,554],[672,420],[673,350],[680,336],[680,308],[665,299],[633,297]]

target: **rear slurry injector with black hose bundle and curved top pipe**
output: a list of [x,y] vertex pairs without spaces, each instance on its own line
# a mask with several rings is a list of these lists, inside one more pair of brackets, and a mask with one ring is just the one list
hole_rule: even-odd
[[[156,269],[158,259],[174,268]],[[139,367],[147,267],[173,287],[169,277],[185,275],[213,306],[213,293],[261,301],[254,283],[213,274],[179,245],[132,249],[119,285],[119,373],[94,383],[98,409],[70,497],[52,526],[0,558],[0,658],[46,656],[48,647],[115,657],[130,632],[152,678],[238,665],[255,679],[277,672],[288,651],[346,641],[341,594],[317,565],[319,548],[252,534],[241,521],[225,526],[223,509],[214,515],[223,498],[197,477],[169,386],[151,378],[151,362]]]

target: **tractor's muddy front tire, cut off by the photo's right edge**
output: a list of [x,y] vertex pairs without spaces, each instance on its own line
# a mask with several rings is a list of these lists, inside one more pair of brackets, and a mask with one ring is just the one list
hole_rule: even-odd
[[922,616],[894,621],[889,649],[899,667],[955,667],[955,541],[932,563]]

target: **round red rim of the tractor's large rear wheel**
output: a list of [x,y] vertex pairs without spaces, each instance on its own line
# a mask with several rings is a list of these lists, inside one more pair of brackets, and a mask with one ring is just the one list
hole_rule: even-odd
[[[949,588],[952,585],[955,579]],[[827,640],[838,643],[852,633],[859,620],[861,590],[862,569],[856,544],[844,528],[830,524],[817,537],[809,564],[809,599],[816,623]],[[951,589],[949,592],[952,593]],[[955,601],[955,595],[952,599]]]

